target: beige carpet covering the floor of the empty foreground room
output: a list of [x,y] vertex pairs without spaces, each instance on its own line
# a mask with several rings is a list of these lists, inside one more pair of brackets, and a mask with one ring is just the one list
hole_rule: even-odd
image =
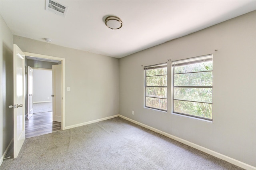
[[1,170],[240,170],[120,117],[25,140]]

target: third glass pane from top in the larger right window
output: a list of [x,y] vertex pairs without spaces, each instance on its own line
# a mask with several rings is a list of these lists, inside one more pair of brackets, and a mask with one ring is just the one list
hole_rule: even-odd
[[174,99],[212,103],[212,88],[174,87]]

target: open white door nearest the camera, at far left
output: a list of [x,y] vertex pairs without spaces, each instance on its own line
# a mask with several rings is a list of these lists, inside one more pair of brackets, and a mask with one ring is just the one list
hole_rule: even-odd
[[17,158],[25,140],[25,55],[20,48],[13,45],[13,107],[14,108],[14,158]]

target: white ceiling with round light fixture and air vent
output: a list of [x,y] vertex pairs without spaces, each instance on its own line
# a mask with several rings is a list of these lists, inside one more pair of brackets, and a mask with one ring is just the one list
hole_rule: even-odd
[[[66,17],[45,10],[45,0],[1,0],[1,15],[12,34],[121,58],[256,10],[255,0],[87,1],[57,0]],[[118,16],[123,27],[105,26]]]

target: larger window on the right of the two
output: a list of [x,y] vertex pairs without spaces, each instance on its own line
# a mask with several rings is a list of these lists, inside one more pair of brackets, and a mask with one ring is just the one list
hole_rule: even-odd
[[212,55],[172,62],[173,112],[212,120]]

